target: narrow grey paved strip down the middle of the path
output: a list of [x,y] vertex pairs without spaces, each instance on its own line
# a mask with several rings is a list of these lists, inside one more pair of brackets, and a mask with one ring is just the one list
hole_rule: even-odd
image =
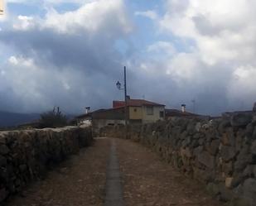
[[116,143],[111,140],[104,206],[124,206]]

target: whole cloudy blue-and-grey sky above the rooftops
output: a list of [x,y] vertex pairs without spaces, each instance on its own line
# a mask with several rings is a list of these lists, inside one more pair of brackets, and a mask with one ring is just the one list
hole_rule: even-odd
[[[254,0],[9,0],[0,110],[110,108],[128,95],[202,114],[256,101]],[[195,105],[194,105],[194,103]],[[194,108],[195,106],[195,108]]]

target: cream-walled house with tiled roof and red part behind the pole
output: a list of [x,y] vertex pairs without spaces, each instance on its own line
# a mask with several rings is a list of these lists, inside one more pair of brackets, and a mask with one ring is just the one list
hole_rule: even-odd
[[[123,101],[114,101],[113,108],[124,107]],[[128,99],[128,122],[150,123],[164,120],[165,105],[144,99]]]

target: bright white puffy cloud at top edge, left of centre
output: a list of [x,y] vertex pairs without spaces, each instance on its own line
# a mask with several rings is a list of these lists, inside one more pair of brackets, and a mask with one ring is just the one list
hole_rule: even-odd
[[[106,25],[106,22],[113,24]],[[122,27],[123,32],[131,31],[122,0],[88,2],[78,10],[64,14],[52,9],[46,14],[46,21],[43,26],[60,33],[73,34],[81,29],[94,33],[99,29],[104,29],[105,26],[111,26],[113,31],[117,27]]]

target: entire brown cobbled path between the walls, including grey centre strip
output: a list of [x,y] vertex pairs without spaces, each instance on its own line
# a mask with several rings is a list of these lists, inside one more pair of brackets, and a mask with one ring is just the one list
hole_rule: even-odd
[[7,206],[221,206],[147,148],[97,138]]

